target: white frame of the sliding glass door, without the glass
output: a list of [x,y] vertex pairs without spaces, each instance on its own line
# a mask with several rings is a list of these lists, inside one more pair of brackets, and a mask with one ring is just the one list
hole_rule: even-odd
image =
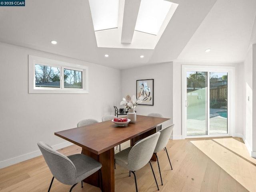
[[[210,116],[207,115],[208,122],[208,135],[186,135],[186,96],[187,96],[187,81],[186,81],[186,71],[207,71],[207,72],[227,72],[228,73],[228,133],[227,134],[214,134],[210,135],[209,133],[209,122]],[[215,65],[182,65],[182,139],[187,138],[200,138],[200,137],[225,137],[232,136],[234,130],[234,114],[235,114],[235,67],[234,66],[215,66]],[[209,79],[207,79],[207,92],[209,93]],[[209,98],[208,94],[207,99],[207,111],[209,114]]]

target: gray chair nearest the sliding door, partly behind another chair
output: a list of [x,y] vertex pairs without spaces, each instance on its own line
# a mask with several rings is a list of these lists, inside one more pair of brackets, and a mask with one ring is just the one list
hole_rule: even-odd
[[172,169],[172,164],[171,164],[171,161],[170,161],[167,149],[166,149],[166,145],[167,145],[167,143],[170,139],[170,136],[172,134],[173,127],[174,127],[174,124],[172,124],[169,127],[166,127],[165,129],[162,129],[162,130],[159,131],[161,134],[160,134],[160,137],[159,137],[158,142],[156,144],[156,148],[154,150],[154,155],[156,155],[156,160],[157,160],[157,164],[158,164],[158,169],[159,169],[159,174],[160,174],[162,185],[163,185],[162,175],[161,175],[161,171],[160,171],[158,156],[157,156],[156,153],[159,152],[160,150],[165,149],[168,160],[170,162],[171,169]]

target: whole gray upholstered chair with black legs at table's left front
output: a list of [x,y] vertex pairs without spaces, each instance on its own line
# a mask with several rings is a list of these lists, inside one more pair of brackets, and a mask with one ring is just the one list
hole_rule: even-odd
[[102,188],[102,165],[98,161],[84,154],[65,156],[42,141],[37,144],[53,175],[48,192],[50,192],[54,178],[63,184],[72,185],[71,192],[78,182],[81,182],[83,187],[82,180],[97,171],[100,172],[100,186]]

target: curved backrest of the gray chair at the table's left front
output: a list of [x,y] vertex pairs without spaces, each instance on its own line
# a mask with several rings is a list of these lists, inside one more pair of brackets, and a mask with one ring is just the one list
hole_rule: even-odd
[[76,183],[76,167],[73,162],[54,150],[50,145],[40,141],[37,143],[46,164],[50,168],[52,175],[63,184],[73,185]]

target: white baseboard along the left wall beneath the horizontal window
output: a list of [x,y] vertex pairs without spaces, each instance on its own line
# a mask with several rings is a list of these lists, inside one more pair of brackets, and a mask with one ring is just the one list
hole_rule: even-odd
[[[70,146],[72,144],[73,143],[70,143],[70,142],[66,141],[64,143],[56,144],[56,145],[52,146],[52,148],[54,148],[55,150],[58,150],[60,148],[64,148],[66,146]],[[36,150],[34,152],[30,152],[30,153],[27,153],[27,154],[16,156],[14,158],[10,158],[10,159],[7,159],[7,160],[0,161],[0,169],[4,168],[4,167],[7,167],[7,166],[10,166],[10,165],[13,165],[13,164],[16,164],[16,163],[19,163],[19,162],[22,162],[24,160],[28,160],[28,159],[40,156],[40,155],[42,155],[42,153],[38,149],[38,150]]]

